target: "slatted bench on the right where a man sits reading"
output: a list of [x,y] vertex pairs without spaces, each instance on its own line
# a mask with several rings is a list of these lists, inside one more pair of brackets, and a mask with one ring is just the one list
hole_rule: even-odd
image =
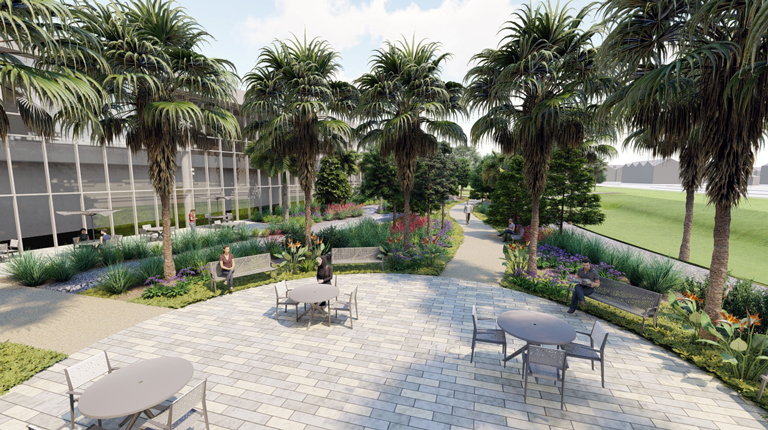
[[[568,303],[571,301],[573,290],[573,287],[568,288]],[[645,331],[646,318],[653,317],[653,326],[657,326],[656,317],[661,305],[661,294],[659,293],[601,276],[600,286],[595,288],[594,292],[587,298],[642,317],[643,324],[640,328],[640,334]]]

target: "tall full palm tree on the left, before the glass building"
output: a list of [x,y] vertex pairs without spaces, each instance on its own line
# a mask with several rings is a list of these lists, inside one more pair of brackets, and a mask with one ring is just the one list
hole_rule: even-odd
[[208,33],[170,1],[86,3],[78,24],[100,42],[109,71],[95,78],[107,103],[84,110],[90,130],[75,131],[89,132],[100,144],[124,138],[131,151],[147,151],[166,232],[163,273],[170,279],[176,273],[169,234],[176,154],[192,145],[207,149],[208,136],[238,137],[237,120],[225,109],[235,102],[234,66],[197,51]]

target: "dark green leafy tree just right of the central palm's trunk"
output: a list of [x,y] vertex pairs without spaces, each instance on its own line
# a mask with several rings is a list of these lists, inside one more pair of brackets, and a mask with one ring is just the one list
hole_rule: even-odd
[[434,154],[422,157],[418,161],[416,180],[413,187],[413,208],[416,212],[427,214],[427,229],[431,228],[431,212],[441,210],[441,228],[445,227],[445,201],[456,194],[456,160],[451,147],[440,142]]

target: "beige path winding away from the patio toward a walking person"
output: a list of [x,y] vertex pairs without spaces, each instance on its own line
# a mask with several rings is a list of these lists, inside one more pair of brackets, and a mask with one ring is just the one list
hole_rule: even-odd
[[[473,205],[476,203],[477,201],[470,202]],[[464,229],[464,243],[440,276],[498,284],[505,269],[501,265],[501,249],[504,242],[496,236],[498,232],[474,215],[470,215],[469,225],[466,225],[463,204],[454,206],[451,216]]]

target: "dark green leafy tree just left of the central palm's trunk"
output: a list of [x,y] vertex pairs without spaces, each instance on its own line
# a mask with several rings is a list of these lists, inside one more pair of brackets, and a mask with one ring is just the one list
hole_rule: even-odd
[[382,157],[378,148],[372,148],[363,153],[360,169],[363,171],[360,194],[368,199],[383,198],[390,202],[392,204],[392,219],[395,219],[398,202],[402,205],[403,192],[396,180],[397,166],[395,166],[394,157],[392,155]]

